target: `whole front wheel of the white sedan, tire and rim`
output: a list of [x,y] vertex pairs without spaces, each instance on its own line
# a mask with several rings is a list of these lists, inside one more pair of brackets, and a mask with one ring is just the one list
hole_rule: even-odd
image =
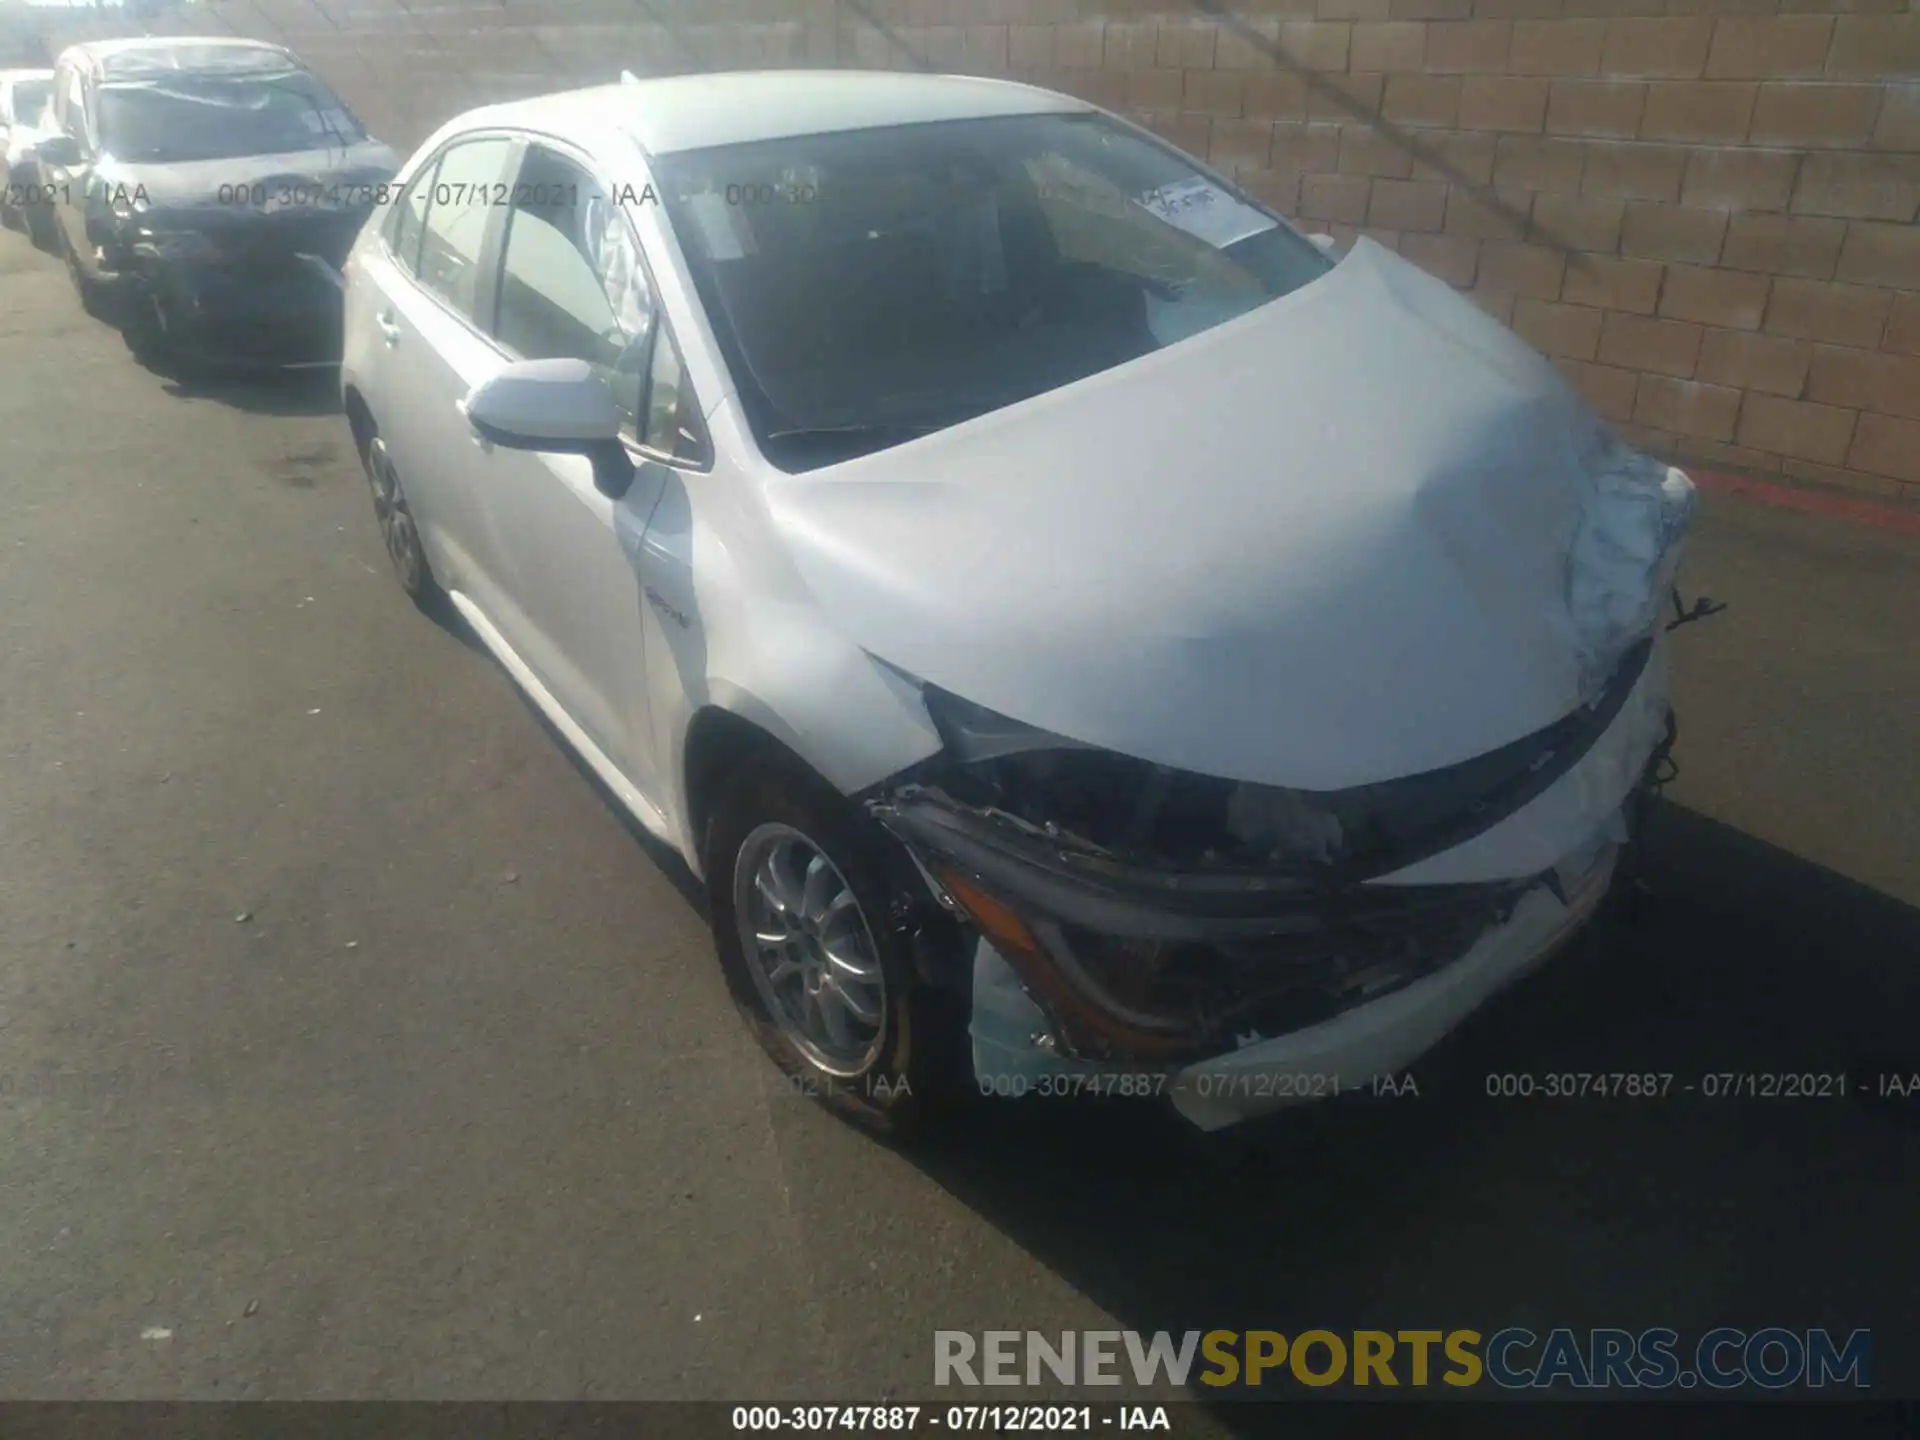
[[904,1139],[954,1096],[966,1021],[916,973],[889,843],[824,781],[764,758],[722,795],[705,868],[728,987],[793,1091]]

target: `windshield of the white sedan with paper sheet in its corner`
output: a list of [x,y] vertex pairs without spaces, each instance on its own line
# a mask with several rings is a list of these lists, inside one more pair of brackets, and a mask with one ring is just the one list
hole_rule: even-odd
[[1100,115],[664,156],[662,200],[781,468],[1123,365],[1323,275],[1242,192]]

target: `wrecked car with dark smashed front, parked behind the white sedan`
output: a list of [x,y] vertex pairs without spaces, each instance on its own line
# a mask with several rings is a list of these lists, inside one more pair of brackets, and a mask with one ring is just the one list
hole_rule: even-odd
[[338,265],[397,157],[253,40],[79,44],[40,142],[81,301],[177,372],[340,357]]

